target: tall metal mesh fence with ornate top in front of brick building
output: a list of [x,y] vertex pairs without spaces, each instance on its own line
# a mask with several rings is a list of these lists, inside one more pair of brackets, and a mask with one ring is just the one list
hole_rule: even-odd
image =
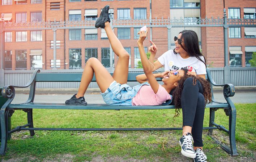
[[[112,51],[106,32],[94,28],[94,23],[94,20],[1,22],[0,69],[7,73],[4,77],[8,78],[8,71],[13,70],[83,69],[90,57],[98,58],[111,71],[118,57]],[[155,59],[165,51],[175,48],[173,38],[180,31],[195,31],[208,67],[224,67],[223,70],[218,70],[223,76],[216,78],[219,83],[234,80],[236,72],[234,74],[233,67],[255,66],[250,60],[256,51],[256,19],[227,19],[224,11],[223,18],[112,19],[111,26],[116,36],[130,54],[131,69],[140,67],[137,32],[144,25],[149,30],[145,51],[150,46],[149,40],[152,40],[158,47]],[[252,69],[254,78],[247,79],[255,80],[256,68]],[[5,84],[7,82],[5,79]],[[243,82],[237,85],[251,83]]]

